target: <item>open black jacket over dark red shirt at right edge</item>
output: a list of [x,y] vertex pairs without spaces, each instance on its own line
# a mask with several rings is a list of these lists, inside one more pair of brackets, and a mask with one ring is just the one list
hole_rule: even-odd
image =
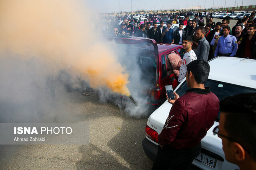
[[[238,46],[238,50],[236,52],[236,57],[242,57],[244,53],[244,48],[248,49],[249,47],[245,47],[245,41],[248,38],[248,34],[244,35],[240,45]],[[252,37],[252,46],[251,53],[252,53],[252,59],[256,59],[256,33],[254,33]]]

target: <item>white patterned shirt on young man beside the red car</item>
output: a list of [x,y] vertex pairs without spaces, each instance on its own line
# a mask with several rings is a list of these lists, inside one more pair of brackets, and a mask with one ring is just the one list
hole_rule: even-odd
[[186,77],[187,66],[191,61],[196,60],[196,54],[194,50],[188,51],[185,53],[182,59],[182,65],[180,66],[180,74],[178,78],[178,82],[182,82],[182,80]]

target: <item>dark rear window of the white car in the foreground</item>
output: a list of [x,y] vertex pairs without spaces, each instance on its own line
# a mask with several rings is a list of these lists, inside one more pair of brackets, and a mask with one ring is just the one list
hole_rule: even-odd
[[[210,91],[213,92],[219,98],[219,100],[222,100],[226,96],[233,96],[240,93],[256,93],[256,89],[254,88],[238,86],[235,84],[224,83],[224,82],[219,82],[219,81],[210,80],[210,79],[207,80],[204,86],[210,87]],[[179,96],[182,96],[186,93],[186,90],[188,90],[188,86],[186,81],[184,81],[182,85],[176,90],[176,93]],[[220,112],[218,113],[218,117],[216,118],[216,121],[219,121],[219,119],[220,119]]]

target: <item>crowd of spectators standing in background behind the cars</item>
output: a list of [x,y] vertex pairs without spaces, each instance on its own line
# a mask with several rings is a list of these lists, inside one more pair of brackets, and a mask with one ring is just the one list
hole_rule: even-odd
[[[256,59],[256,19],[252,12],[248,18],[238,20],[230,28],[230,17],[225,17],[222,22],[213,22],[212,13],[197,13],[194,19],[188,16],[193,14],[146,14],[144,20],[141,16],[116,16],[108,22],[106,31],[110,36],[137,36],[154,39],[156,43],[183,44],[183,39],[191,35],[193,38],[192,49],[197,59],[209,61],[216,56],[242,57]],[[203,19],[205,16],[206,25]],[[166,26],[163,20],[168,18]],[[181,18],[184,16],[184,20]],[[157,20],[156,20],[157,19]],[[120,23],[121,21],[121,23]],[[141,24],[142,23],[142,24]],[[178,29],[173,24],[179,24]],[[185,27],[185,28],[184,28]],[[175,29],[174,29],[175,28]]]

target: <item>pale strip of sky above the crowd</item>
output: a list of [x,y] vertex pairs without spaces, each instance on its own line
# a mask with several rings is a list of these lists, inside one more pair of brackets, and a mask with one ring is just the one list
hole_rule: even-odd
[[[118,0],[84,0],[91,9],[99,10],[100,12],[118,12]],[[201,6],[204,8],[224,7],[225,0],[119,0],[120,11],[134,10],[168,10],[178,8],[190,8],[192,6]],[[132,3],[131,3],[132,2]],[[226,0],[226,7],[241,6],[242,0]],[[243,0],[243,6],[256,5],[255,0]]]

